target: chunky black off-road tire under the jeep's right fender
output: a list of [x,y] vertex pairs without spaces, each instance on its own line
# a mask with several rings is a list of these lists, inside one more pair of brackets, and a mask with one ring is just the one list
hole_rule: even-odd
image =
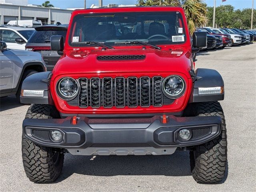
[[225,117],[220,103],[193,103],[186,109],[185,116],[220,116],[222,118],[221,134],[190,150],[190,167],[196,182],[204,184],[221,182],[227,162],[227,135]]

